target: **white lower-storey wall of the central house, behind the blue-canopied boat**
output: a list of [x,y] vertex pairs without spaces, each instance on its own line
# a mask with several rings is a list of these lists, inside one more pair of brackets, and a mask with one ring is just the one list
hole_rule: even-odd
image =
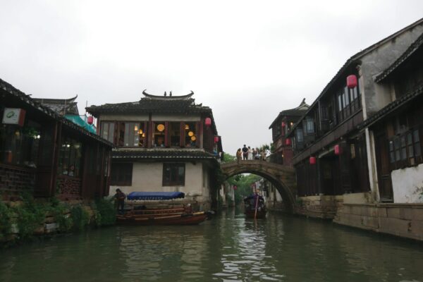
[[[110,195],[116,188],[128,195],[130,192],[184,192],[185,200],[198,202],[200,208],[209,209],[211,203],[209,188],[209,170],[201,162],[185,163],[185,185],[163,186],[163,163],[133,163],[133,178],[130,186],[110,186]],[[207,180],[203,181],[206,177]]]

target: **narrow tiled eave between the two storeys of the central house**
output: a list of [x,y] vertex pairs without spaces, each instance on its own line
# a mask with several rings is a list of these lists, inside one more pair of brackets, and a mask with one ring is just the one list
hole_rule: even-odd
[[113,159],[214,159],[204,149],[114,149]]

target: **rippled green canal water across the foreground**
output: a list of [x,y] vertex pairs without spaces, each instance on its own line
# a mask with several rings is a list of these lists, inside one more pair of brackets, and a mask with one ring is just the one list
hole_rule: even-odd
[[420,281],[423,245],[303,217],[113,226],[0,250],[0,281]]

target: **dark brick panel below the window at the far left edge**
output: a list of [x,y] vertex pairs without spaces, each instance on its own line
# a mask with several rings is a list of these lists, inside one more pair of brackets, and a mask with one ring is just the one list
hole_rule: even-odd
[[35,171],[27,168],[14,168],[0,165],[0,194],[4,200],[19,195],[20,192],[34,190]]

